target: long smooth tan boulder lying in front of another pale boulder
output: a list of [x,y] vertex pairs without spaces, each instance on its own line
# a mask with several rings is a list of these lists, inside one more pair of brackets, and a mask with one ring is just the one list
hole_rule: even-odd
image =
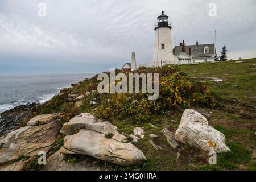
[[89,155],[121,166],[139,164],[147,160],[142,151],[133,144],[105,138],[104,134],[93,130],[80,130],[77,134],[66,136],[60,152]]

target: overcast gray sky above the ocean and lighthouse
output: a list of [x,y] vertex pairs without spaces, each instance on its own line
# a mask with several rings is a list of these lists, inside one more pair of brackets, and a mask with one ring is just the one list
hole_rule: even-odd
[[151,62],[162,10],[173,44],[213,43],[217,30],[217,53],[226,44],[229,59],[256,57],[255,0],[0,0],[0,73],[108,71],[133,51],[137,64]]

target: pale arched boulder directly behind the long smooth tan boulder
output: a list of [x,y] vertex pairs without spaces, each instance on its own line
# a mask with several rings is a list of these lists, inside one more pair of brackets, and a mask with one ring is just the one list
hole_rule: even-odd
[[61,133],[65,135],[72,135],[81,129],[93,130],[102,134],[113,134],[112,139],[115,139],[119,142],[123,142],[126,137],[117,131],[117,127],[113,126],[110,122],[102,122],[99,119],[96,119],[90,113],[81,113],[76,117],[72,118],[68,123],[64,123]]

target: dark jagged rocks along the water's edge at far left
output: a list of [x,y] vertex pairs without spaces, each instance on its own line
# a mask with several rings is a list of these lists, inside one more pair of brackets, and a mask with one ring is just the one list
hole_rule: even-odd
[[32,110],[39,105],[37,102],[32,102],[0,113],[0,137],[18,128],[19,122],[31,115]]

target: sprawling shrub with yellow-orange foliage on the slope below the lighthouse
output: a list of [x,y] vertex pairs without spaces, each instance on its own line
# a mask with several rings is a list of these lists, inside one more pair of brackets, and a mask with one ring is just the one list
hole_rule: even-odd
[[131,118],[147,122],[152,114],[161,110],[184,109],[192,106],[216,107],[217,100],[207,86],[189,81],[187,75],[176,67],[139,69],[138,73],[159,73],[159,97],[148,100],[148,94],[109,94],[109,102],[101,103],[94,112],[97,118]]

